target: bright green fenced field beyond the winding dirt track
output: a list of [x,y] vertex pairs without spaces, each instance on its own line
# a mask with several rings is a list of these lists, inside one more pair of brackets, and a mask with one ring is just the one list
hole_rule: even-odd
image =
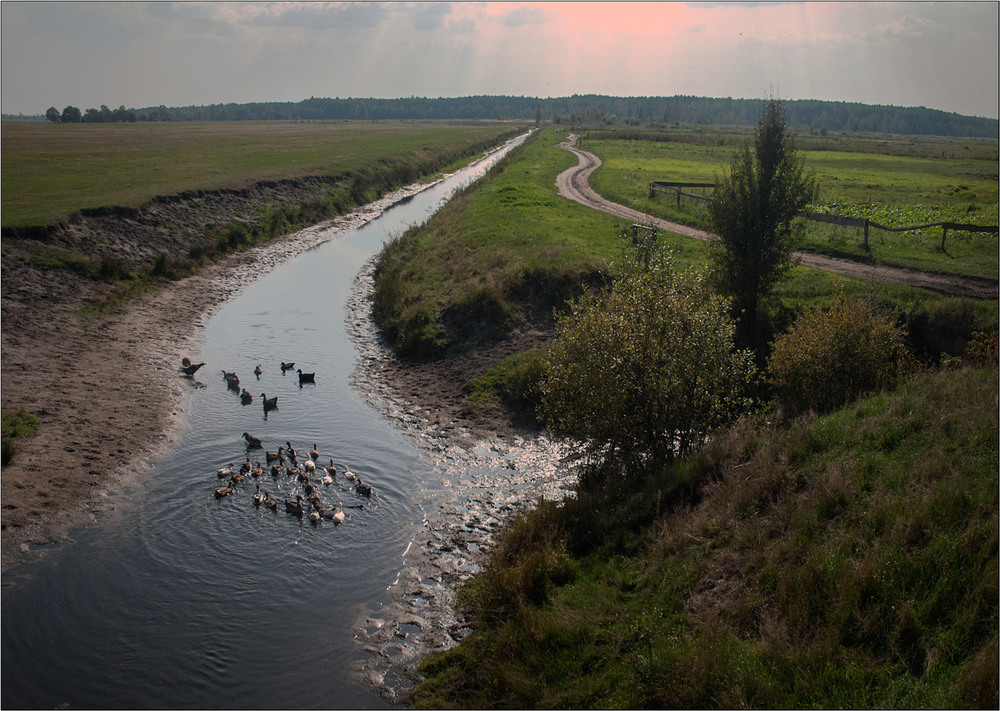
[[[609,134],[601,134],[609,135]],[[652,215],[709,229],[704,202],[658,193],[653,180],[714,181],[729,167],[745,134],[686,133],[672,140],[600,138],[584,141],[603,165],[591,184],[604,197]],[[661,136],[666,138],[669,136]],[[932,222],[997,223],[997,143],[920,138],[845,142],[842,137],[800,137],[800,156],[816,174],[819,195],[811,210],[868,217],[889,227]],[[690,141],[690,142],[687,142]],[[711,189],[689,192],[710,195]],[[833,256],[873,258],[913,269],[996,279],[997,238],[949,232],[940,249],[941,229],[892,233],[869,231],[870,257],[862,230],[803,221],[800,247]]]

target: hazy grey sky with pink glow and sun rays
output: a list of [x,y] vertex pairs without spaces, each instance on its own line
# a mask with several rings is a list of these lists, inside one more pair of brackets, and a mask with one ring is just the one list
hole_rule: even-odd
[[997,118],[984,2],[0,2],[4,113],[678,94]]

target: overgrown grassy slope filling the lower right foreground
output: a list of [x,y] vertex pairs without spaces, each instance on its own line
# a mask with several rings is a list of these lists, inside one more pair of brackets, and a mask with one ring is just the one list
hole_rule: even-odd
[[542,506],[415,705],[995,708],[997,430],[995,367],[931,372]]

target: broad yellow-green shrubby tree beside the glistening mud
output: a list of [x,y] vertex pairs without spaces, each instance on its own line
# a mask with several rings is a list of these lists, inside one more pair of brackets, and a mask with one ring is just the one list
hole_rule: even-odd
[[677,272],[663,252],[625,271],[558,319],[541,389],[554,431],[630,473],[702,442],[745,404],[754,366],[733,351],[728,303],[704,274]]

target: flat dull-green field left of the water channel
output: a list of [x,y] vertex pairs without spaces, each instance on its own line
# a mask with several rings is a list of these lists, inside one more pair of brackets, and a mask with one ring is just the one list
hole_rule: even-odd
[[158,195],[335,176],[380,160],[420,164],[511,131],[510,123],[2,125],[3,227]]

